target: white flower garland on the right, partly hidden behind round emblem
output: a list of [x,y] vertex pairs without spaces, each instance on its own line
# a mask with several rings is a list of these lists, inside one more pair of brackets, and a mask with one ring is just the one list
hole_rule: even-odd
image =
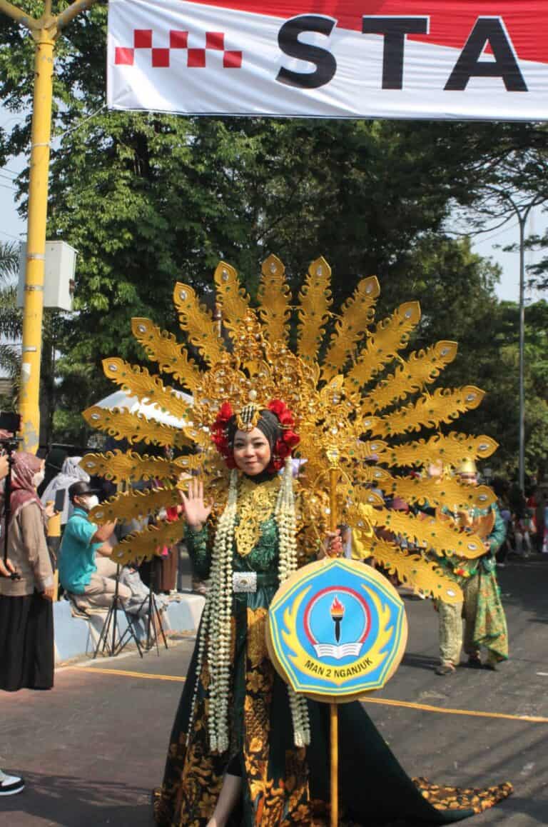
[[[291,457],[285,461],[284,477],[280,486],[274,518],[279,534],[279,582],[282,584],[288,576],[297,571],[297,520],[295,518],[295,497],[293,495],[293,462]],[[288,686],[289,707],[293,719],[293,742],[296,747],[310,743],[310,721],[308,719],[307,699],[298,695]]]

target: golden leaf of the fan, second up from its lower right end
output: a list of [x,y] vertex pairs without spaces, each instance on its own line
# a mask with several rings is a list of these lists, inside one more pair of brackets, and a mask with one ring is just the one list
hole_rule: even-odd
[[411,543],[431,548],[439,556],[455,554],[474,560],[485,553],[484,543],[476,534],[465,533],[425,514],[415,517],[403,511],[373,509],[369,519],[375,526],[386,528],[393,534],[403,534]]

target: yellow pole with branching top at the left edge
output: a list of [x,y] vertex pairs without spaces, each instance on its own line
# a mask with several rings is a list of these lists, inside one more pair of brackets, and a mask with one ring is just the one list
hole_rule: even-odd
[[12,5],[11,2],[0,0],[0,12],[12,17],[12,20],[21,26],[26,26],[35,41],[21,395],[19,399],[22,448],[33,453],[36,452],[40,440],[40,361],[44,313],[45,225],[48,209],[55,41],[69,22],[74,20],[80,12],[85,12],[93,6],[94,2],[96,0],[78,0],[64,9],[64,12],[55,16],[51,13],[51,0],[45,0],[42,16],[35,18]]

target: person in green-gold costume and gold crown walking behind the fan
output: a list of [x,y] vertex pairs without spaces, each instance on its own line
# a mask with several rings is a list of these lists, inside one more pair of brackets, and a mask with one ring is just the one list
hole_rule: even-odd
[[[478,474],[474,461],[463,461],[457,474],[466,485],[477,485]],[[499,596],[496,578],[495,554],[503,543],[505,528],[496,503],[490,509],[469,509],[450,514],[461,528],[472,526],[474,519],[485,517],[488,511],[494,514],[493,529],[485,540],[485,554],[475,560],[445,558],[441,565],[459,583],[464,595],[462,604],[448,604],[440,600],[437,604],[440,623],[440,666],[436,675],[451,675],[460,663],[463,648],[463,617],[465,621],[464,650],[468,655],[468,666],[481,669],[483,666],[494,670],[497,663],[507,660],[508,638],[506,618]],[[488,656],[482,663],[481,648],[487,648]]]

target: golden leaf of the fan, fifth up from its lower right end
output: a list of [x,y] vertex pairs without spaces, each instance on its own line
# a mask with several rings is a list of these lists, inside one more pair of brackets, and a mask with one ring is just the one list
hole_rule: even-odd
[[438,388],[433,394],[422,396],[417,402],[399,408],[393,414],[386,414],[379,420],[377,433],[388,436],[418,431],[423,427],[437,428],[440,423],[452,422],[459,414],[477,408],[484,395],[484,390],[474,385]]

